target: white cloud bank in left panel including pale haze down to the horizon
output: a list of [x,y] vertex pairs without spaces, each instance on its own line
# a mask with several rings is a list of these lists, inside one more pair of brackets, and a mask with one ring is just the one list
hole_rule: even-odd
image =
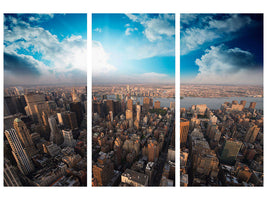
[[[40,16],[30,17],[29,21],[38,21]],[[60,41],[56,35],[42,27],[31,26],[11,16],[6,17],[5,20],[11,22],[11,29],[5,27],[4,30],[4,52],[7,55],[17,56],[14,58],[18,60],[25,57],[24,53],[18,53],[21,49],[28,51],[28,63],[35,63],[34,70],[40,73],[38,79],[32,77],[25,80],[23,74],[20,76],[14,74],[9,69],[9,65],[5,65],[5,72],[8,71],[5,76],[6,84],[86,83],[87,42],[80,35],[72,35]],[[35,59],[33,54],[40,54],[41,60]]]

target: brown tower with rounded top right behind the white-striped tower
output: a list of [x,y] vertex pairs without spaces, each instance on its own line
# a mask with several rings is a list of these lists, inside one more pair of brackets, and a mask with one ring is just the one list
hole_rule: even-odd
[[19,118],[14,120],[14,128],[19,136],[19,139],[22,143],[22,146],[26,149],[30,157],[37,153],[37,150],[34,147],[29,129],[26,124]]

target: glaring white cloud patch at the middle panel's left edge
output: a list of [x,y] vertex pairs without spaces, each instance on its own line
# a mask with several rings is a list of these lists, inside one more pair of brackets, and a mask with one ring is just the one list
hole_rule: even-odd
[[111,73],[117,70],[116,67],[108,63],[109,54],[106,53],[102,44],[98,41],[92,42],[93,53],[93,76]]

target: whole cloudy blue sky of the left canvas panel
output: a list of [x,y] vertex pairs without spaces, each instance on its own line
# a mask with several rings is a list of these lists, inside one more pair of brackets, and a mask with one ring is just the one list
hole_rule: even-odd
[[5,14],[5,85],[86,84],[86,14]]

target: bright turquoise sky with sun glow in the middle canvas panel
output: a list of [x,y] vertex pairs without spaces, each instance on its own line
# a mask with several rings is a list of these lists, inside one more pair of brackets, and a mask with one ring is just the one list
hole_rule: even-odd
[[93,83],[174,83],[174,14],[93,14]]

